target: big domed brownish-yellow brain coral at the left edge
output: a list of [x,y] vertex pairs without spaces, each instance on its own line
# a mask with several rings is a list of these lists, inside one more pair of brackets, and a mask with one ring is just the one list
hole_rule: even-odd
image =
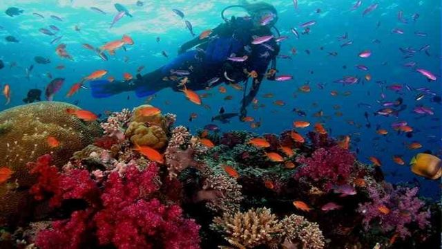
[[[102,135],[98,122],[84,122],[66,113],[66,108],[79,109],[62,102],[38,102],[0,112],[0,166],[10,167],[14,174],[0,185],[0,225],[16,223],[17,214],[25,214],[28,188],[34,179],[26,163],[43,154],[51,154],[53,163],[61,167],[75,151],[79,151]],[[50,148],[48,136],[60,145]],[[20,208],[19,208],[20,207]]]

